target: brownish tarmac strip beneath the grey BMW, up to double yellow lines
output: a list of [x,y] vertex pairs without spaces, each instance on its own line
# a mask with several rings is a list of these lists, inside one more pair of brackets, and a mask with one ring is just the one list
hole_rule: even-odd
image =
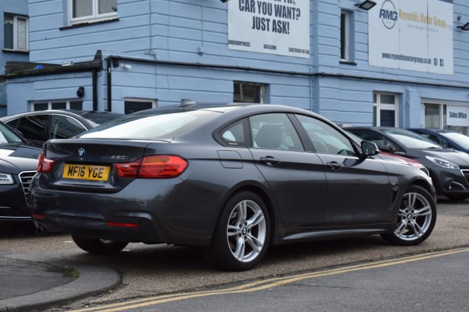
[[273,247],[263,262],[248,272],[225,272],[213,269],[206,261],[203,249],[191,247],[130,244],[117,256],[93,256],[77,249],[70,236],[34,237],[31,233],[23,233],[21,229],[1,229],[0,245],[4,250],[54,254],[67,260],[107,265],[121,272],[123,279],[121,287],[74,302],[70,306],[54,309],[59,311],[181,291],[223,289],[232,287],[233,283],[238,282],[256,282],[337,266],[468,247],[469,200],[464,202],[439,200],[438,214],[432,236],[419,246],[391,246],[379,236],[371,236]]

